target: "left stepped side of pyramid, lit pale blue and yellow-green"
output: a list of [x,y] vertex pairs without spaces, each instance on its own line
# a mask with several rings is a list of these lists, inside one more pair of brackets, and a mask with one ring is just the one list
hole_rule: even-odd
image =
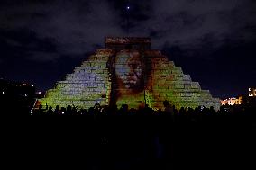
[[72,74],[67,74],[64,81],[59,81],[54,89],[47,91],[39,103],[67,107],[74,104],[88,109],[96,103],[108,105],[111,92],[111,76],[107,68],[112,50],[99,49],[96,54],[76,67]]

